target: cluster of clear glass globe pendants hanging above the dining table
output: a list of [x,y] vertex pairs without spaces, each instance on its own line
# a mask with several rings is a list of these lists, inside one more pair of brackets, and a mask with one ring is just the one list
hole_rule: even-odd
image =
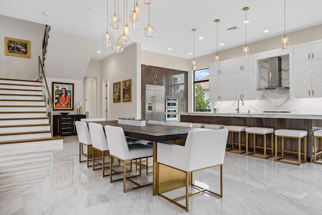
[[[123,51],[122,45],[127,45],[130,42],[131,30],[137,31],[140,26],[140,20],[143,18],[143,8],[139,4],[135,3],[130,10],[130,19],[129,24],[127,23],[127,1],[123,0],[123,34],[119,36],[119,28],[121,27],[121,19],[118,16],[119,14],[119,0],[117,0],[117,14],[116,14],[116,0],[114,0],[114,15],[108,17],[108,0],[107,0],[107,27],[106,34],[104,35],[103,42],[104,47],[108,48],[112,45],[112,37],[108,32],[108,26],[111,26],[113,29],[117,29],[117,44],[113,46],[113,49],[116,53],[121,53]],[[153,26],[150,25],[150,4],[154,0],[141,0],[142,3],[149,6],[149,22],[148,25],[143,29],[143,34],[147,37],[153,37],[156,33],[156,30]],[[126,3],[125,3],[126,2]],[[126,8],[126,9],[125,9]],[[126,17],[125,17],[126,16]]]

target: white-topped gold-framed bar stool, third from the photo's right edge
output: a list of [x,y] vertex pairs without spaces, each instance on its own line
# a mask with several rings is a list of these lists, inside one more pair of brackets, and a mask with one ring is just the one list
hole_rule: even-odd
[[[253,134],[253,142],[254,142],[254,152],[253,153],[248,153],[248,149],[249,149],[248,134]],[[264,135],[264,147],[256,145],[256,134]],[[271,147],[270,148],[266,146],[266,139],[267,139],[266,134],[271,134]],[[256,158],[263,158],[263,159],[273,157],[273,147],[274,147],[273,134],[274,134],[274,128],[266,128],[266,127],[249,127],[249,128],[246,128],[246,155],[256,157]],[[257,153],[256,148],[263,149],[264,153],[263,154],[262,153]],[[266,154],[266,150],[271,150],[270,155]],[[258,156],[258,155],[262,155],[262,156]]]

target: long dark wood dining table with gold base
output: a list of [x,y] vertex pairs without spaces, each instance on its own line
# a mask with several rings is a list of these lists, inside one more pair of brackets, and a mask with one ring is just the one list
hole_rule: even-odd
[[125,136],[137,139],[144,139],[153,142],[153,195],[157,195],[157,142],[182,145],[191,130],[201,130],[204,128],[189,128],[169,125],[146,124],[144,127],[118,124],[113,121],[93,121],[103,126],[111,125],[122,127]]

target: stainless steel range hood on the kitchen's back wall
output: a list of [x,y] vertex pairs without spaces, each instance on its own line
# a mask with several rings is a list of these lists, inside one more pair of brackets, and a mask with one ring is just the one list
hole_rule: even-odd
[[282,86],[282,58],[271,57],[261,61],[261,77],[266,79],[267,86],[257,90],[288,90],[289,87]]

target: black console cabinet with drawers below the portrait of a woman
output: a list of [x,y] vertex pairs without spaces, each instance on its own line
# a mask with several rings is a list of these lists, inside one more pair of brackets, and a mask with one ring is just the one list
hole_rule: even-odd
[[86,115],[53,115],[53,135],[76,135],[75,121],[81,121]]

